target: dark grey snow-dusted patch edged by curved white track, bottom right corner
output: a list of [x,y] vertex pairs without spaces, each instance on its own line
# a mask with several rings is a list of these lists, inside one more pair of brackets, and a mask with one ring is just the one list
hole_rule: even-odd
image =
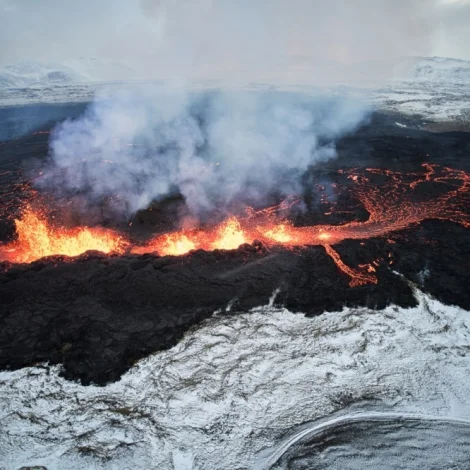
[[296,442],[292,438],[290,446],[281,446],[277,461],[276,455],[267,459],[265,468],[470,469],[470,422],[364,415],[312,426],[307,432]]

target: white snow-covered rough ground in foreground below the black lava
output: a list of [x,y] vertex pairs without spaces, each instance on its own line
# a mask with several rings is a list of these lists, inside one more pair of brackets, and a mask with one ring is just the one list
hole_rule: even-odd
[[470,418],[470,316],[419,306],[306,318],[219,313],[120,382],[41,366],[0,374],[5,468],[244,469],[301,423],[351,404]]

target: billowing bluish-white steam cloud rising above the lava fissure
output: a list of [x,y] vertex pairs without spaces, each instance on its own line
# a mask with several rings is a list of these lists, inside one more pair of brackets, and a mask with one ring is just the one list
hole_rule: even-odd
[[126,215],[178,191],[201,218],[295,192],[298,176],[333,158],[335,140],[366,116],[339,96],[121,91],[56,128],[41,184],[91,205],[118,195]]

